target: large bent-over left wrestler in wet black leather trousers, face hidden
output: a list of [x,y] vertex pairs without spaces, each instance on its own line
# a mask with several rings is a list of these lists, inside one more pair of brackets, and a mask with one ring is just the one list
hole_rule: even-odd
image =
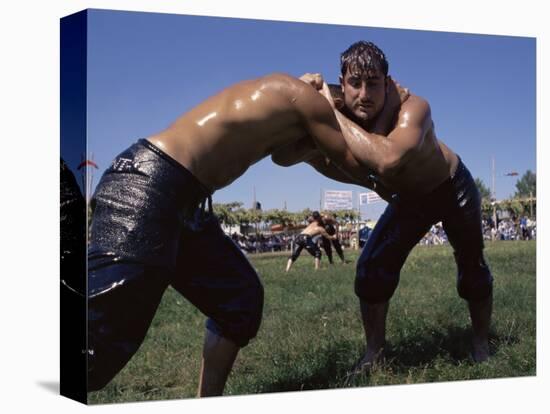
[[259,329],[263,288],[212,215],[211,195],[267,155],[281,165],[290,152],[292,163],[308,161],[306,137],[336,174],[366,177],[329,102],[284,74],[235,84],[115,158],[92,199],[89,391],[136,353],[172,285],[208,317],[198,395],[223,393],[239,349]]

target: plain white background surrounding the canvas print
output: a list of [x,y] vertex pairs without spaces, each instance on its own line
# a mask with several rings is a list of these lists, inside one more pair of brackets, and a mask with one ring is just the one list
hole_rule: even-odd
[[[84,8],[249,17],[538,38],[539,183],[548,176],[549,34],[543,1],[5,1],[0,13],[0,411],[79,413],[58,396],[59,18]],[[505,85],[503,85],[505,87]],[[342,391],[135,403],[94,412],[542,412],[548,406],[547,191],[539,185],[538,376]],[[545,297],[546,296],[546,297]],[[496,315],[498,317],[498,315]],[[546,322],[546,328],[543,326]],[[88,408],[89,410],[90,408]]]

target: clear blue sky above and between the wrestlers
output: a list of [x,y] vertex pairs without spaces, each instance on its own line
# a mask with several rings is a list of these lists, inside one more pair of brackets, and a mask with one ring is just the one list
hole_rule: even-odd
[[[94,185],[116,154],[232,83],[271,72],[319,72],[336,83],[340,53],[361,39],[384,50],[390,74],[430,102],[438,137],[488,187],[495,157],[498,199],[515,191],[518,177],[506,172],[536,170],[533,38],[101,10],[89,17]],[[321,189],[364,191],[267,158],[214,202],[250,207],[254,187],[264,209],[286,201],[291,211],[317,209]],[[383,204],[367,208],[376,218]]]

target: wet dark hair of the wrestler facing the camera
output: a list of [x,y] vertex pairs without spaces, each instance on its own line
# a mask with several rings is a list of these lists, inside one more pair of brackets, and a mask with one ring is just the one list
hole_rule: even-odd
[[388,67],[386,55],[372,42],[355,42],[340,55],[342,77],[346,75],[348,68],[361,73],[379,70],[384,76],[388,76]]

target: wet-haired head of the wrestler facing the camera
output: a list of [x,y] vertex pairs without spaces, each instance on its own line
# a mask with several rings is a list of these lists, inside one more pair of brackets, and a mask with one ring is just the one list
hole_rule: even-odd
[[359,124],[376,118],[388,88],[388,61],[374,43],[359,41],[340,57],[340,85],[346,112]]

